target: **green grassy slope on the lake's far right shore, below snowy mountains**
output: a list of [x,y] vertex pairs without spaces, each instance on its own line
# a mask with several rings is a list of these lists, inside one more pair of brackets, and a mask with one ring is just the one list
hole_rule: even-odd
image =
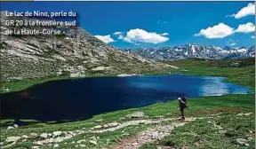
[[[234,82],[255,89],[255,59],[184,59],[164,61],[164,63],[180,67],[180,72],[187,75],[209,75],[227,77]],[[238,66],[236,63],[239,63]]]

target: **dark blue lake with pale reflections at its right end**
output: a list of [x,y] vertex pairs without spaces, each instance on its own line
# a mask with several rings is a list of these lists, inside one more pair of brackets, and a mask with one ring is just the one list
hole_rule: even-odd
[[148,106],[181,96],[189,99],[250,91],[224,80],[209,76],[145,75],[45,82],[2,94],[2,117],[42,121],[87,119],[95,114]]

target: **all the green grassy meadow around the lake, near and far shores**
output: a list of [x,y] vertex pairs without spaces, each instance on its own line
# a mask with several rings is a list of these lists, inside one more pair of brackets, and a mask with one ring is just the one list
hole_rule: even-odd
[[[255,148],[255,63],[254,59],[232,59],[232,60],[205,60],[205,59],[186,59],[179,61],[164,61],[164,63],[180,67],[180,74],[185,75],[211,75],[227,77],[227,82],[233,82],[240,85],[248,86],[252,89],[250,94],[241,95],[223,95],[216,97],[189,98],[188,106],[190,110],[186,110],[186,117],[200,117],[211,114],[220,114],[221,117],[211,119],[196,120],[173,129],[172,134],[164,137],[162,140],[141,145],[141,149],[155,149],[157,146],[171,148],[209,148],[209,149],[228,149],[228,148]],[[232,66],[232,63],[238,63],[240,66]],[[19,90],[35,84],[40,81],[9,83],[6,86],[12,86],[12,89]],[[7,145],[4,140],[6,137],[29,135],[30,133],[53,132],[56,130],[68,131],[77,129],[89,129],[97,125],[104,125],[108,122],[128,122],[132,119],[125,118],[125,115],[133,112],[144,112],[147,118],[141,119],[157,119],[179,118],[180,111],[178,109],[178,101],[169,101],[166,103],[156,103],[150,106],[131,108],[107,114],[94,115],[92,119],[76,122],[34,122],[33,120],[21,120],[28,122],[27,126],[21,126],[18,129],[6,129],[4,124],[13,124],[13,120],[1,121],[1,143]],[[252,113],[248,116],[237,116],[241,113]],[[102,119],[102,122],[96,122]],[[213,127],[212,123],[221,126],[222,130]],[[129,126],[116,131],[108,131],[100,134],[84,133],[82,135],[72,137],[68,140],[60,142],[60,148],[75,148],[71,142],[87,139],[85,143],[87,148],[106,148],[115,145],[120,139],[132,137],[138,132],[152,128],[154,124]],[[253,134],[254,133],[254,134]],[[125,135],[124,135],[125,134]],[[89,143],[88,138],[99,137],[98,145]],[[236,138],[252,139],[249,146],[237,145]],[[14,148],[30,148],[33,145],[31,139],[25,142],[18,142],[12,145]],[[10,147],[10,148],[12,148]],[[7,147],[8,148],[8,147]],[[51,148],[44,146],[44,148]],[[110,147],[111,148],[111,147]]]

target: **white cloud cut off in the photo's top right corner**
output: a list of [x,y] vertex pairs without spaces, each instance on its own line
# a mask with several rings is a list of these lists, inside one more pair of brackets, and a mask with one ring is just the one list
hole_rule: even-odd
[[248,15],[255,15],[255,3],[248,4],[247,6],[243,7],[239,12],[236,14],[230,14],[226,17],[235,17],[235,19],[240,19]]

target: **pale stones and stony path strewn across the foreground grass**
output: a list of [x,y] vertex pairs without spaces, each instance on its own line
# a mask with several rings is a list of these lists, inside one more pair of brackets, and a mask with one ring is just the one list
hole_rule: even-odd
[[[248,117],[251,116],[252,113],[240,113],[236,114],[239,117]],[[216,129],[216,131],[221,134],[226,134],[228,129],[224,129],[221,127],[219,123],[216,123],[214,120],[216,118],[223,118],[225,115],[221,114],[211,114],[209,116],[204,117],[189,117],[186,121],[177,121],[177,118],[164,118],[163,116],[157,116],[153,119],[148,119],[148,116],[142,112],[136,112],[133,114],[128,114],[126,119],[128,121],[124,122],[108,122],[105,124],[98,124],[91,128],[82,128],[82,129],[73,129],[70,131],[60,131],[56,130],[51,133],[43,132],[43,133],[30,133],[28,135],[18,135],[12,137],[6,137],[4,142],[1,142],[3,148],[12,148],[15,144],[20,142],[27,142],[28,140],[32,141],[31,148],[61,148],[60,144],[69,145],[72,148],[102,148],[100,147],[100,140],[104,139],[103,137],[97,137],[97,134],[104,134],[104,133],[114,133],[118,130],[121,131],[121,136],[126,136],[123,139],[116,142],[114,145],[108,145],[103,148],[111,148],[111,149],[119,149],[119,148],[127,148],[127,149],[137,149],[140,148],[141,145],[146,145],[148,143],[156,143],[157,141],[163,139],[166,136],[172,135],[172,130],[177,129],[181,126],[189,126],[190,122],[196,122],[200,120],[204,120],[211,124],[212,129]],[[131,118],[142,118],[139,120],[131,120]],[[125,119],[125,118],[122,118]],[[102,122],[102,119],[96,120],[97,123]],[[129,134],[124,132],[125,128],[132,127],[136,129],[138,126],[148,126],[145,130],[138,131],[134,134]],[[14,125],[9,126],[8,129],[19,129],[19,126]],[[200,128],[198,128],[200,129]],[[243,147],[243,146],[250,146],[249,143],[253,140],[253,133],[250,131],[248,138],[236,138],[236,144]],[[78,137],[84,134],[93,134],[91,137]],[[113,134],[113,135],[114,135]],[[72,141],[73,138],[78,137]],[[208,139],[208,138],[207,138]],[[66,140],[70,140],[69,143],[65,142]],[[209,140],[200,139],[197,143],[198,145],[207,144]],[[64,142],[64,143],[63,143]],[[163,146],[162,146],[163,147]],[[63,146],[62,146],[63,148]],[[159,145],[159,147],[161,146]],[[165,146],[165,148],[175,148],[175,146]]]

